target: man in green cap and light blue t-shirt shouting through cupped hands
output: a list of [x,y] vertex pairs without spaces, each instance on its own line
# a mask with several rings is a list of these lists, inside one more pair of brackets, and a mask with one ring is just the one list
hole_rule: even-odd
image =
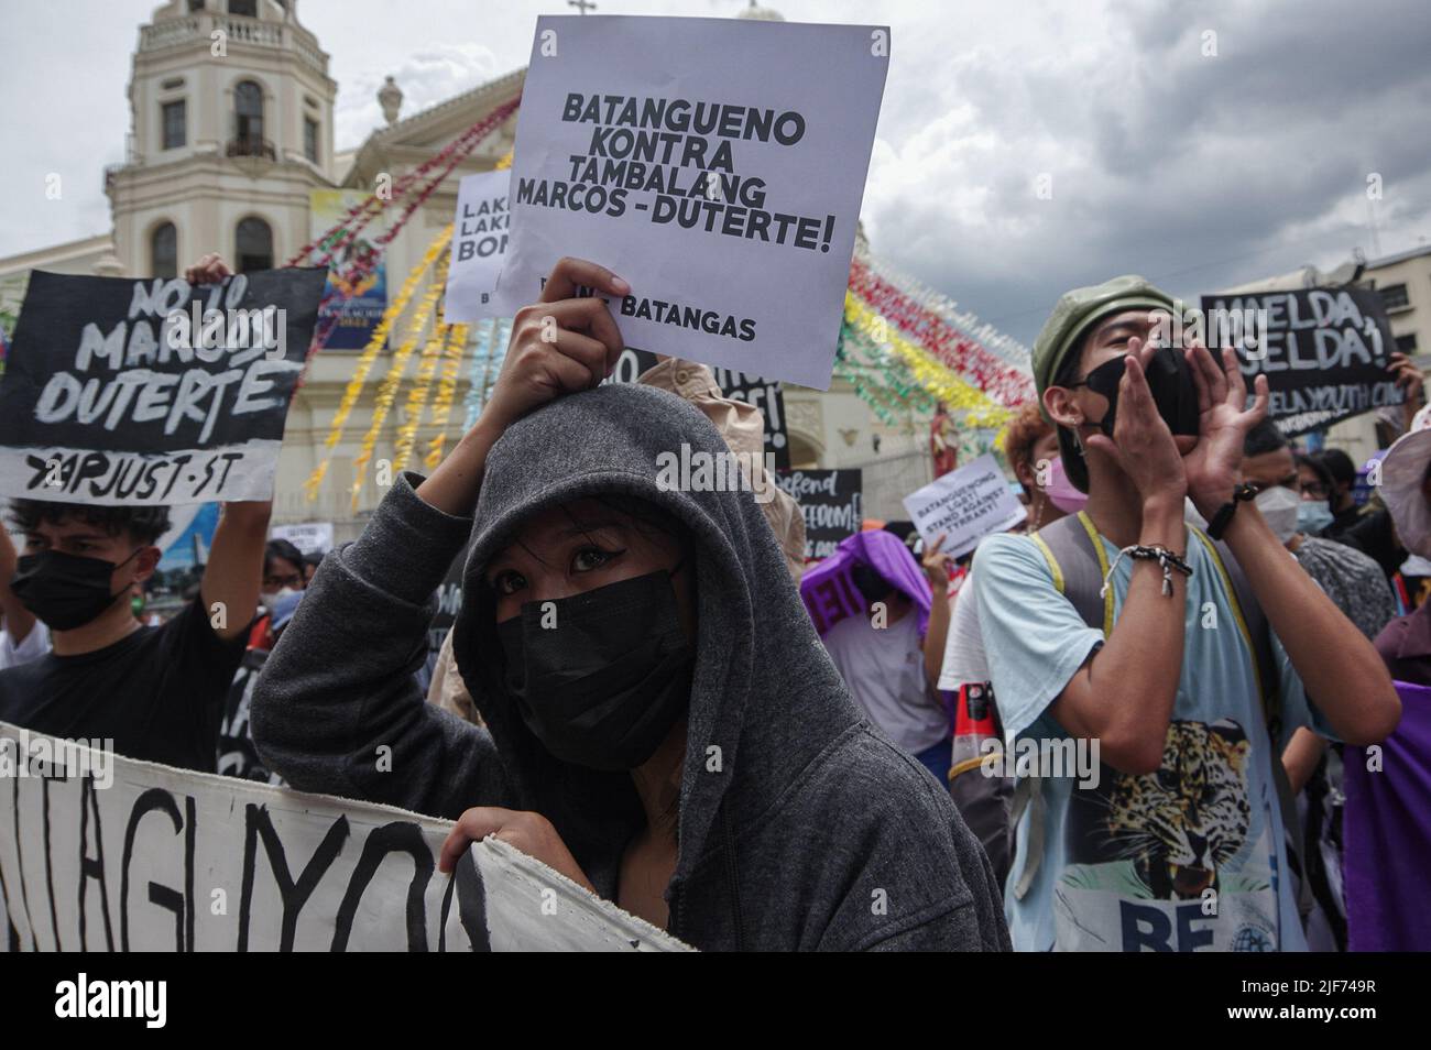
[[[1155,345],[1175,309],[1136,276],[1059,299],[1033,372],[1088,506],[976,556],[1006,747],[1102,762],[1086,780],[1016,770],[1020,950],[1304,950],[1281,748],[1298,725],[1377,742],[1401,714],[1377,651],[1242,485],[1266,379],[1248,406],[1232,350],[1219,365]],[[1212,539],[1183,524],[1185,498]]]

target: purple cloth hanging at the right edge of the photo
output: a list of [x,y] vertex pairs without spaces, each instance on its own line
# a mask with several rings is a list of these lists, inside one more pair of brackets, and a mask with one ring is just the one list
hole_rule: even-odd
[[1344,752],[1347,947],[1431,951],[1431,687],[1395,682],[1401,724],[1381,744]]

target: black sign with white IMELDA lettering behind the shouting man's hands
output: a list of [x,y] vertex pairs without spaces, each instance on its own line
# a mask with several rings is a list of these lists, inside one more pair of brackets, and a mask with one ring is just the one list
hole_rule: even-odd
[[1268,418],[1286,436],[1405,399],[1387,372],[1397,343],[1381,296],[1372,290],[1211,295],[1202,298],[1202,309],[1208,318],[1259,312],[1255,330],[1265,328],[1265,345],[1239,348],[1238,358],[1249,388],[1255,376],[1266,376]]

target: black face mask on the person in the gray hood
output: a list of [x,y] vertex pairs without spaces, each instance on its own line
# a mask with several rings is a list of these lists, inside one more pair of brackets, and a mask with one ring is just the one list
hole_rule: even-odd
[[695,654],[671,589],[677,569],[527,602],[497,625],[507,691],[557,758],[634,770],[690,707]]

